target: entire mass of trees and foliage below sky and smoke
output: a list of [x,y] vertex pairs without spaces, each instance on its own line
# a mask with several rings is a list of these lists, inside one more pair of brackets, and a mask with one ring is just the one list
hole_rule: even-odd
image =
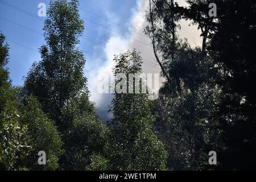
[[[77,48],[79,1],[51,1],[41,60],[20,88],[11,85],[0,34],[1,170],[256,169],[255,1],[149,1],[144,32],[166,81],[154,101],[148,92],[115,92],[107,125],[89,100]],[[217,16],[208,14],[212,2]],[[201,30],[200,47],[179,38],[182,19]],[[138,51],[114,61],[115,85],[124,81],[118,75],[142,73]],[[46,165],[38,165],[39,151]],[[217,152],[217,165],[209,165],[209,151]]]

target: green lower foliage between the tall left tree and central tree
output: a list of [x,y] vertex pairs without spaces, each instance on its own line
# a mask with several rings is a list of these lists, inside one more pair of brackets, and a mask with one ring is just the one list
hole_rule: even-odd
[[69,123],[63,137],[63,165],[66,169],[72,170],[96,167],[93,164],[93,156],[104,155],[108,128],[95,117],[94,105],[88,101],[88,95],[82,94],[81,97],[73,98],[62,111],[63,121]]

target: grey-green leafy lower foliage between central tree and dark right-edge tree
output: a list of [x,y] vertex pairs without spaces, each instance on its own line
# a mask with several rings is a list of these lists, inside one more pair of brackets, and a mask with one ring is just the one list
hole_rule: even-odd
[[160,94],[154,108],[158,115],[155,130],[166,142],[168,167],[174,170],[212,168],[208,164],[208,152],[218,152],[223,145],[222,131],[213,117],[220,93],[219,88],[203,84],[195,93],[187,90],[176,97]]

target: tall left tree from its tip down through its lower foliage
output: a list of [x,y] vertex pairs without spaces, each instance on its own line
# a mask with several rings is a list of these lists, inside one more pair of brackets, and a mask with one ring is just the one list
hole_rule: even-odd
[[85,59],[77,48],[84,31],[78,6],[77,0],[50,2],[44,23],[47,46],[40,48],[42,60],[32,65],[24,89],[36,97],[63,135],[60,168],[84,170],[91,155],[103,155],[107,129],[89,101]]

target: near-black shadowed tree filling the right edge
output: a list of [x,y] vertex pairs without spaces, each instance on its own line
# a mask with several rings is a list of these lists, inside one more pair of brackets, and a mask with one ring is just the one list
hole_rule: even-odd
[[217,7],[208,52],[222,73],[216,114],[224,130],[225,148],[219,153],[221,169],[255,169],[256,3],[226,0],[218,1]]

